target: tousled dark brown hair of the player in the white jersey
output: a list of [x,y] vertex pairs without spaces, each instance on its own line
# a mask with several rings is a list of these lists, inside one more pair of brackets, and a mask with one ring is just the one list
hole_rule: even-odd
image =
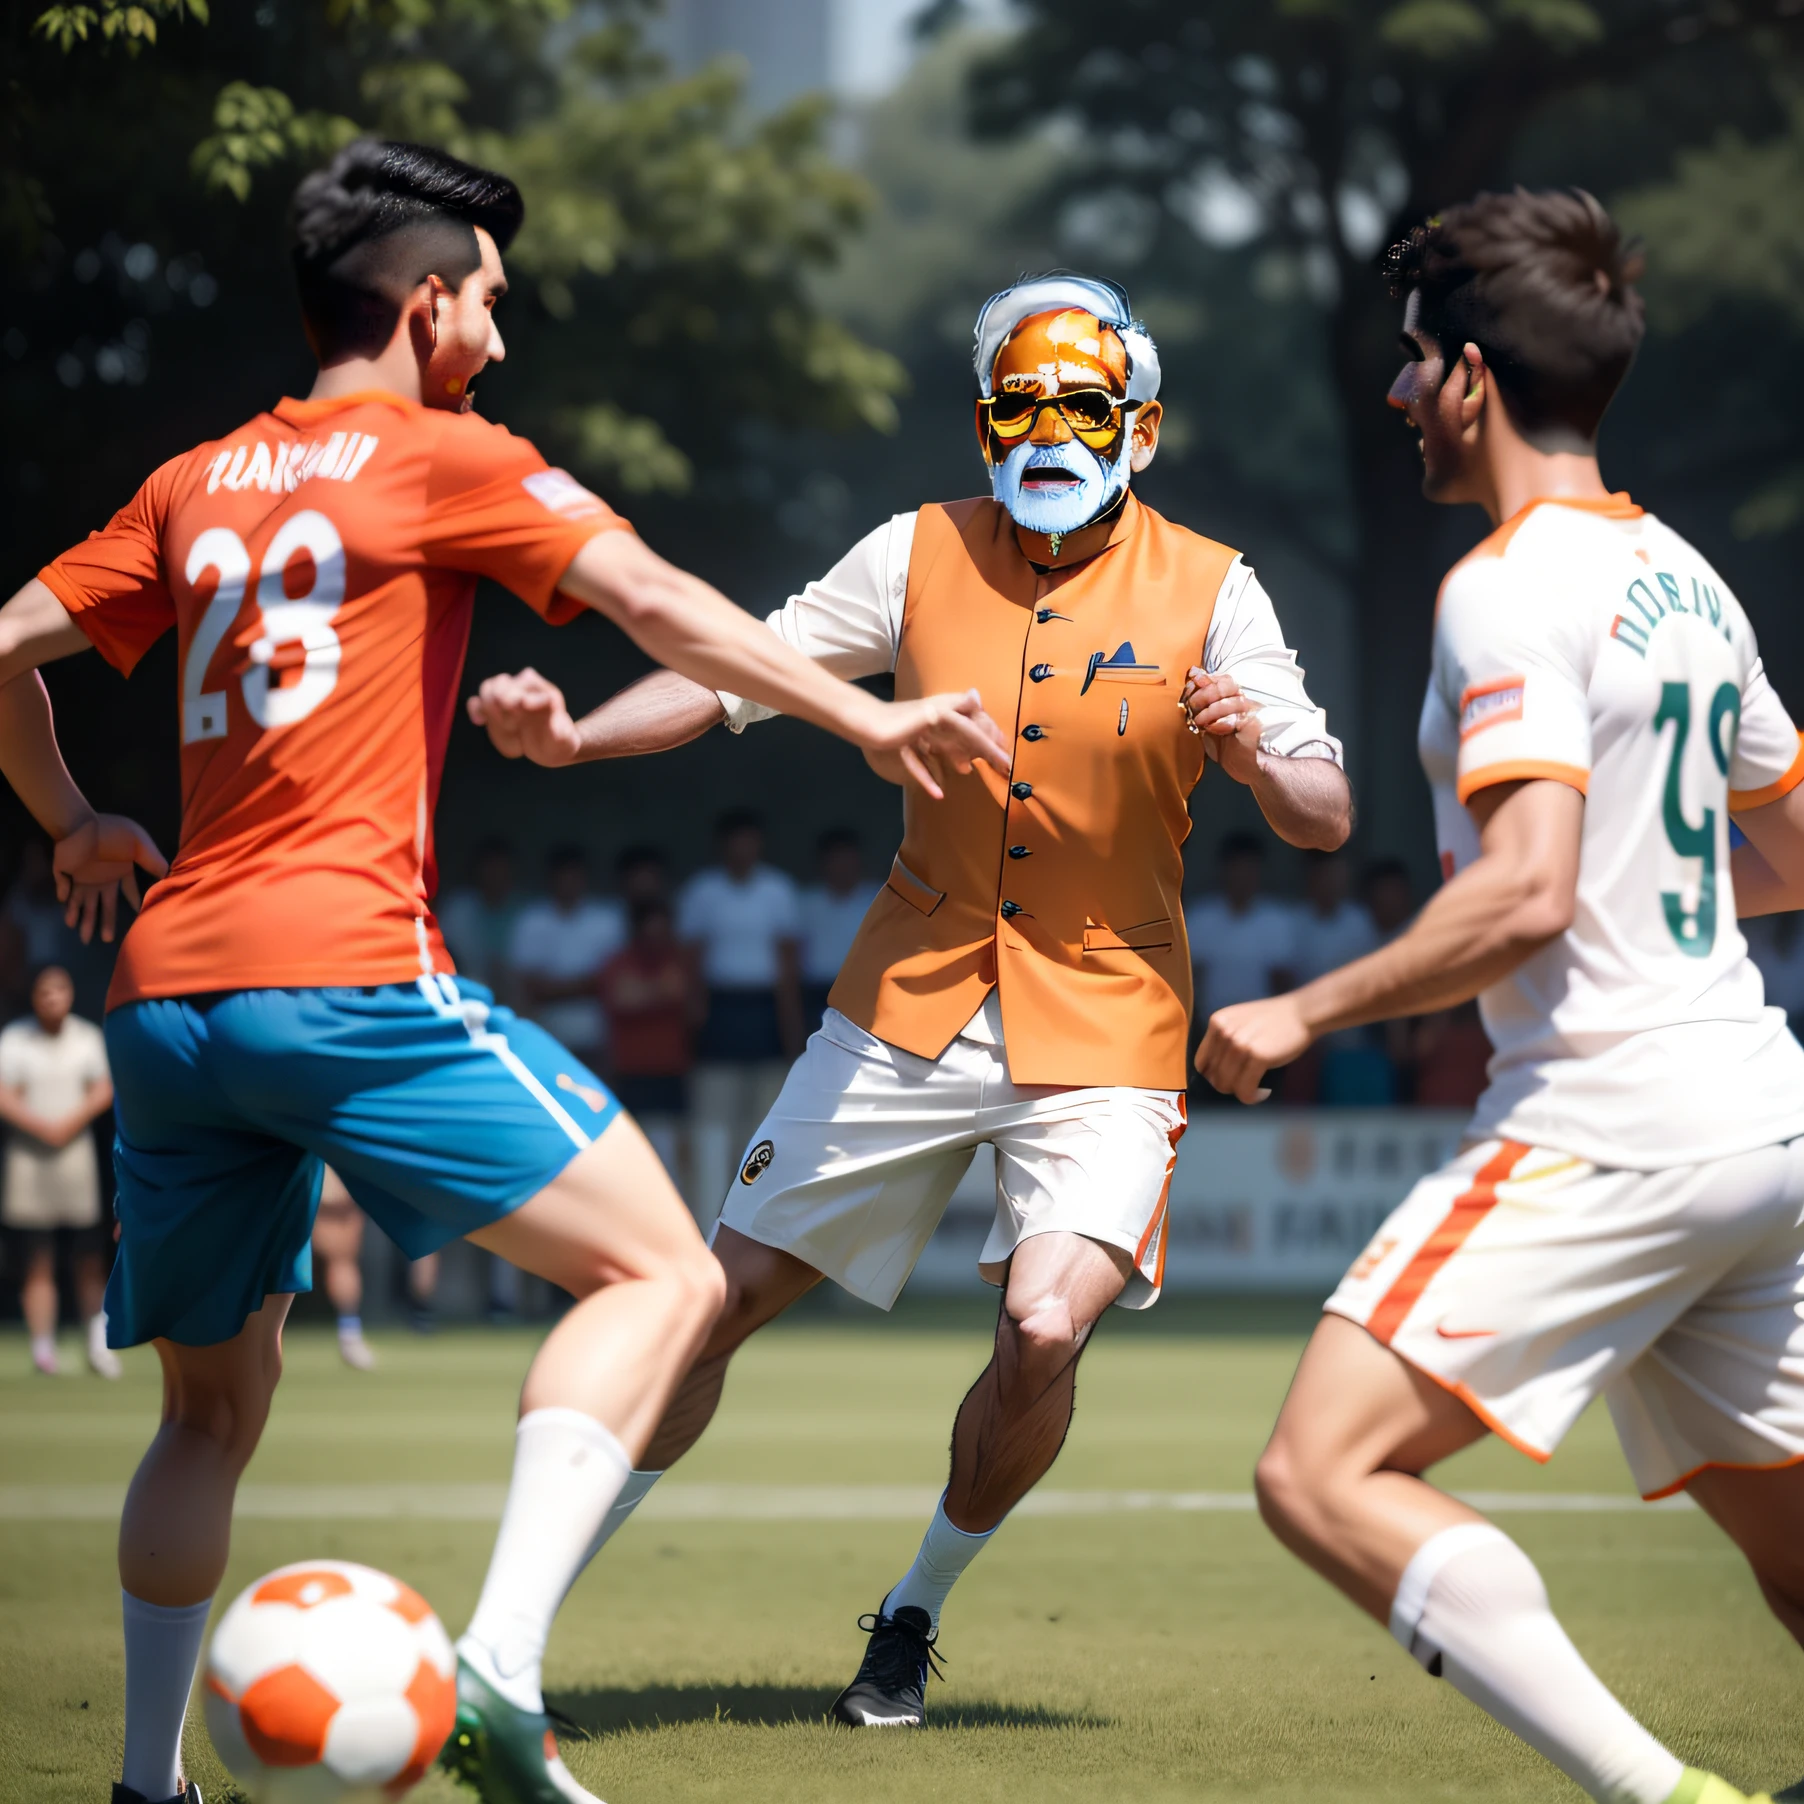
[[1479,195],[1391,247],[1396,299],[1422,296],[1422,330],[1452,370],[1472,343],[1523,431],[1595,438],[1645,330],[1643,258],[1582,188]]

